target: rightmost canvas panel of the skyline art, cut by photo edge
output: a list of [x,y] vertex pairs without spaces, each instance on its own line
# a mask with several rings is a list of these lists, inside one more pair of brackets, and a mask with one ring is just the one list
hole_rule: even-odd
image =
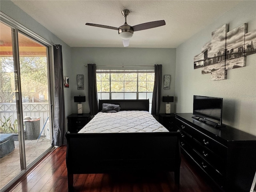
[[256,30],[245,34],[244,56],[256,53]]

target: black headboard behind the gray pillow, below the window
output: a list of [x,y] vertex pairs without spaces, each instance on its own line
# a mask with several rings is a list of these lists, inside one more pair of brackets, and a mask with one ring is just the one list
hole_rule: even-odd
[[103,103],[120,105],[120,110],[140,110],[149,111],[148,99],[126,99],[126,100],[99,100],[99,111],[102,110]]

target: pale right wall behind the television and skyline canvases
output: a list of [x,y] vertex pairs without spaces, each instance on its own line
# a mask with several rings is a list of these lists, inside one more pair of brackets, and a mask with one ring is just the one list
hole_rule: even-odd
[[211,81],[210,74],[194,70],[194,56],[211,40],[212,31],[229,24],[229,31],[247,23],[256,30],[256,1],[244,1],[176,49],[176,112],[192,112],[193,95],[223,98],[223,123],[256,135],[256,54],[246,56],[246,66],[227,71],[226,80]]

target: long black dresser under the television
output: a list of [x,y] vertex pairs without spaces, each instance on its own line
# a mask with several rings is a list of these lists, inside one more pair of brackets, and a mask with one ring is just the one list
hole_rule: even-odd
[[256,136],[230,126],[214,128],[175,114],[182,154],[190,158],[225,192],[249,192],[256,172]]

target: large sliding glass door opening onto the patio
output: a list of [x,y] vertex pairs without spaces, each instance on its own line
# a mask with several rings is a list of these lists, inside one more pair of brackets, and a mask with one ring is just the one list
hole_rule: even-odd
[[52,118],[49,47],[6,23],[0,22],[0,30],[0,188],[4,190],[52,148]]

